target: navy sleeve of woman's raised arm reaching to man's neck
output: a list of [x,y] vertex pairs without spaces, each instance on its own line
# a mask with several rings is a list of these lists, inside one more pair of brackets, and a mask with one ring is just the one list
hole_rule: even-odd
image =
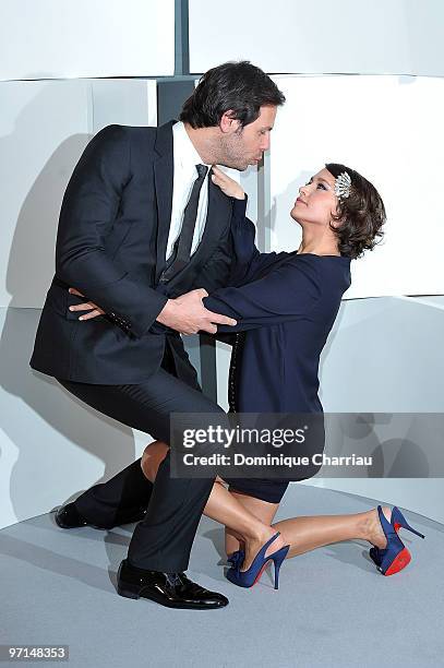
[[245,216],[248,198],[235,200],[231,219],[232,260],[228,285],[237,286],[254,281],[274,264],[290,253],[261,253],[255,243],[256,228]]

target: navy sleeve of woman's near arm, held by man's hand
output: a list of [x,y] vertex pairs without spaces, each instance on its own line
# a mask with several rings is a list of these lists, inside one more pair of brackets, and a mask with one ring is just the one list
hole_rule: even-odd
[[203,299],[205,308],[238,321],[220,332],[241,332],[308,315],[321,297],[313,255],[289,255],[261,278],[238,287],[219,288]]

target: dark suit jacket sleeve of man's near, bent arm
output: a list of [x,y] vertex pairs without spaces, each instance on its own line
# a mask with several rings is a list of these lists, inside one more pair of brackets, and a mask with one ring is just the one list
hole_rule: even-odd
[[86,146],[68,184],[57,236],[56,275],[127,332],[142,336],[167,297],[133,281],[106,252],[106,238],[131,177],[129,133],[120,126],[108,126]]

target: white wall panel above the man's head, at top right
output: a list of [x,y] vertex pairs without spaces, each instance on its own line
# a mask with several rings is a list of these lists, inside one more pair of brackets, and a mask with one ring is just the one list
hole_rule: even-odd
[[190,0],[190,69],[251,60],[266,72],[444,74],[441,0]]

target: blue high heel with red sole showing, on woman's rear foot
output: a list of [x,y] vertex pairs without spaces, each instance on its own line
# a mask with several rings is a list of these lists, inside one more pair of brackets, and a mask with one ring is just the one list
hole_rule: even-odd
[[383,575],[393,575],[405,569],[411,561],[410,552],[398,536],[399,528],[406,528],[421,538],[425,538],[425,536],[409,525],[396,505],[392,510],[389,522],[382,512],[381,505],[377,506],[377,513],[382,530],[387,539],[387,547],[383,550],[377,547],[372,547],[370,549],[370,557]]

